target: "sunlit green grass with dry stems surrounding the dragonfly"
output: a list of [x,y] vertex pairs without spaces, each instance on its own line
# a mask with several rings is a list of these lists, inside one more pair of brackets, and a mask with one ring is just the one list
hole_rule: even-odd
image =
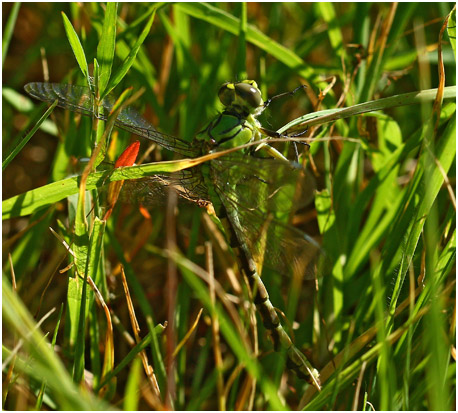
[[[437,39],[451,6],[120,4],[106,12],[103,4],[50,3],[23,4],[17,17],[3,7],[12,16],[3,48],[3,158],[11,155],[3,174],[4,409],[454,409],[454,16],[442,39],[445,84],[437,75]],[[116,38],[106,30],[114,20]],[[24,84],[43,80],[40,48],[51,81],[87,85],[95,70],[101,94],[144,88],[137,108],[188,141],[221,109],[225,81],[256,79],[264,97],[307,85],[260,120],[269,129],[290,121],[308,129],[300,138],[310,149],[301,145],[299,160],[317,191],[293,223],[320,243],[325,263],[316,280],[272,271],[263,279],[296,346],[320,371],[321,392],[273,351],[235,257],[203,208],[158,196],[149,212],[120,204],[106,223],[94,219],[103,203],[96,189],[189,161],[159,148],[147,166],[111,172],[102,164],[78,196],[76,160],[91,155],[103,126],[55,110],[56,136],[27,135],[27,119],[46,110],[34,102],[37,111],[28,112],[23,100]],[[410,105],[382,100],[424,84],[448,87],[434,110],[437,90]],[[337,108],[348,108],[345,119],[303,118]],[[111,162],[131,139],[113,135]],[[15,149],[22,136],[31,140]],[[62,316],[48,314],[61,306]]]

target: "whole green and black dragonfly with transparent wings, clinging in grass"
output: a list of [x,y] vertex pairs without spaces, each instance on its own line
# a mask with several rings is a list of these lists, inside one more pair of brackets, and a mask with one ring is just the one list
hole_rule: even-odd
[[[58,106],[64,109],[103,120],[115,102],[112,96],[107,96],[95,115],[93,97],[87,87],[34,82],[25,85],[25,90],[39,100],[54,102],[57,99]],[[223,111],[192,142],[159,132],[135,109],[124,108],[116,119],[116,126],[180,155],[194,158],[245,145],[244,149],[197,167],[172,175],[128,181],[125,185],[135,184],[136,197],[142,204],[148,204],[168,186],[185,199],[201,206],[213,206],[275,350],[286,353],[288,368],[321,389],[318,370],[293,344],[261,279],[264,263],[278,271],[313,273],[316,257],[321,253],[319,245],[286,222],[292,200],[309,194],[311,183],[300,165],[289,161],[272,146],[246,147],[265,136],[291,138],[296,135],[280,135],[262,127],[257,118],[273,98],[264,101],[254,80],[224,83],[218,97]]]

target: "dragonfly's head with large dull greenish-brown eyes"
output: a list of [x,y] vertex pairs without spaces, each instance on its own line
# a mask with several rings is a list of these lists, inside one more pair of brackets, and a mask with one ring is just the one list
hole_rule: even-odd
[[261,91],[254,80],[224,83],[218,92],[225,110],[242,116],[259,115],[264,110]]

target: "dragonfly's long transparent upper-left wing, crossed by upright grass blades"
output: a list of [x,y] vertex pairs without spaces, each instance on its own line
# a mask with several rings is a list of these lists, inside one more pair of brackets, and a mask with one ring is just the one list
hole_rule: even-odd
[[[25,91],[36,99],[44,102],[58,101],[58,106],[81,113],[85,116],[94,116],[92,95],[88,87],[77,85],[65,85],[60,83],[33,82],[24,86]],[[99,116],[106,120],[116,99],[108,95],[102,102],[103,113]],[[158,132],[151,123],[144,119],[135,109],[124,108],[119,114],[116,126],[128,132],[135,133],[146,139],[156,142],[158,145],[180,153],[184,156],[195,157],[199,154],[198,149],[189,142],[175,136]]]

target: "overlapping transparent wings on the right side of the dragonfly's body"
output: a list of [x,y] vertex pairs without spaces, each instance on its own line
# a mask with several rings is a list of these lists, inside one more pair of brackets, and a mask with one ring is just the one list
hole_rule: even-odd
[[212,161],[212,181],[237,236],[258,263],[315,276],[319,244],[288,225],[297,205],[313,194],[315,183],[298,166],[276,159],[230,156]]

